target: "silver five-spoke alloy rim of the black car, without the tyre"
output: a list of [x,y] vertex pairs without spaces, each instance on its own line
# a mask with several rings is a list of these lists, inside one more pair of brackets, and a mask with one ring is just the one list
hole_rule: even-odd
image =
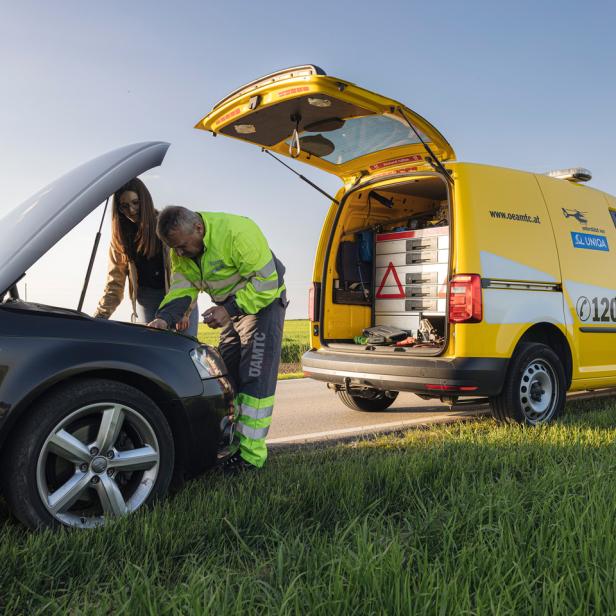
[[47,437],[37,461],[37,488],[62,524],[98,526],[138,509],[158,477],[160,451],[150,423],[115,402],[80,408]]

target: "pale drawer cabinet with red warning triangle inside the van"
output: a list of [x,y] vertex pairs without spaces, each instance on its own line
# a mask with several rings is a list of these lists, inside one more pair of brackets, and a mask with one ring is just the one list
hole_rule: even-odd
[[373,324],[415,334],[423,317],[445,316],[449,226],[378,233]]

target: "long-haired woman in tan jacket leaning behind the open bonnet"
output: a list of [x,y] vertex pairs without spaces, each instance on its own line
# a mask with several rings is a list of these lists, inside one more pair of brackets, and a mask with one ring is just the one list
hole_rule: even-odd
[[[94,316],[108,319],[128,292],[132,303],[131,320],[149,323],[169,288],[169,253],[156,235],[152,196],[145,184],[135,178],[113,195],[109,272],[103,297]],[[178,324],[190,336],[197,335],[197,307]]]

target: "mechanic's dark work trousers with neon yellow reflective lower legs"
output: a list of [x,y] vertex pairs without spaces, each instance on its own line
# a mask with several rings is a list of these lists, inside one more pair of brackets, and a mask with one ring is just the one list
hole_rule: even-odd
[[235,391],[234,445],[257,467],[267,459],[286,307],[283,293],[257,314],[232,317],[220,334],[219,350]]

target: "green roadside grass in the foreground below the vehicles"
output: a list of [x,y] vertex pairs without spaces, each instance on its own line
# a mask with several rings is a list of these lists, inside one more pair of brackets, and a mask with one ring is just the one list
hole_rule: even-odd
[[613,614],[615,480],[614,402],[278,453],[107,528],[6,522],[2,612]]

